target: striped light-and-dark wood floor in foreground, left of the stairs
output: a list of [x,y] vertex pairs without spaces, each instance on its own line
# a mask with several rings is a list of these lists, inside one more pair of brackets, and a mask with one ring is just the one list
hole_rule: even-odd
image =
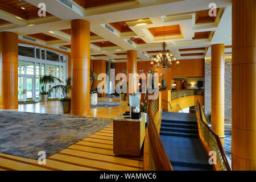
[[113,125],[65,148],[46,159],[37,160],[0,153],[0,171],[141,171],[143,158],[129,158],[113,154]]

